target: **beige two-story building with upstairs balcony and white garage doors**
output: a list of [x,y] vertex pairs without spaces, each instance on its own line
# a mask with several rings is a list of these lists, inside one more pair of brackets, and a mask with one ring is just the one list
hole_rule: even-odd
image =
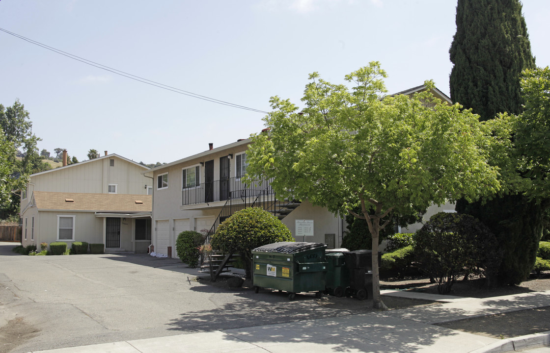
[[156,253],[176,257],[175,240],[180,232],[210,231],[246,206],[272,212],[298,241],[339,246],[341,217],[307,201],[278,200],[267,180],[251,185],[241,181],[249,144],[250,139],[219,148],[210,144],[205,152],[144,172],[155,181],[152,245]]

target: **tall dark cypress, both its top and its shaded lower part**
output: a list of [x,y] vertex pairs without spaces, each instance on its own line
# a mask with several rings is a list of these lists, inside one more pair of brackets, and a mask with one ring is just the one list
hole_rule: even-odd
[[[456,34],[449,49],[453,102],[472,108],[480,120],[507,111],[520,114],[520,75],[535,68],[518,0],[458,0]],[[456,210],[474,215],[497,236],[503,253],[499,283],[519,284],[529,274],[542,234],[546,203],[520,192],[482,204],[460,200]]]

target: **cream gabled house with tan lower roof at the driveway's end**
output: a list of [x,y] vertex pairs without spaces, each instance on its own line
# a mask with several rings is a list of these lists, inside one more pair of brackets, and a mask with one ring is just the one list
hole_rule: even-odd
[[61,241],[70,247],[80,241],[105,244],[106,251],[147,251],[152,179],[142,174],[146,170],[149,167],[106,152],[31,175],[21,192],[21,243]]

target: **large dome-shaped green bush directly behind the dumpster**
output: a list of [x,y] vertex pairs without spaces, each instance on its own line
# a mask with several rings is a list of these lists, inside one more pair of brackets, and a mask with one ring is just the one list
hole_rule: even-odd
[[261,208],[235,212],[219,225],[211,239],[215,250],[241,255],[247,278],[251,274],[252,249],[278,242],[294,242],[292,233],[281,220]]

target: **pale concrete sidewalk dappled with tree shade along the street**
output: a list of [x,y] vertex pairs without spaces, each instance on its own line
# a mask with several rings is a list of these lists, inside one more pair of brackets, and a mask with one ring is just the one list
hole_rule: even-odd
[[[384,291],[384,295],[437,300],[417,306],[318,320],[273,324],[169,337],[129,340],[49,353],[172,352],[508,352],[550,346],[550,332],[500,340],[434,326],[434,323],[550,306],[550,291],[495,298],[458,298]],[[550,350],[550,349],[549,349]],[[35,351],[34,353],[37,353]]]

